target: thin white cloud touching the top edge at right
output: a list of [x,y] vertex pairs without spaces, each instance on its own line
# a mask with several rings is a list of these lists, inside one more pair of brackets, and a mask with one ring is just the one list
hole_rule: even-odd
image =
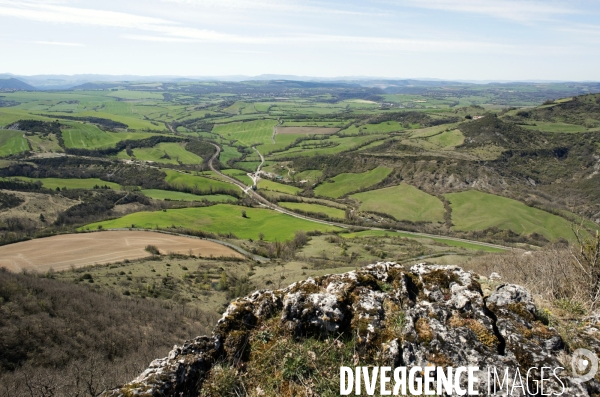
[[483,14],[513,21],[537,21],[578,13],[572,4],[530,0],[406,0],[416,8]]

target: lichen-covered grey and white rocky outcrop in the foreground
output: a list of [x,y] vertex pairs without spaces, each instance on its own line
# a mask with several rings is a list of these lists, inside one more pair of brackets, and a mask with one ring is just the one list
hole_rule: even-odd
[[[352,343],[351,362],[344,365],[478,366],[482,371],[495,367],[498,373],[509,368],[511,374],[517,368],[525,373],[531,367],[565,367],[559,360],[565,355],[565,343],[538,317],[531,294],[505,284],[486,298],[478,279],[454,266],[419,264],[405,269],[395,263],[378,263],[359,271],[309,278],[282,290],[257,291],[232,302],[211,337],[176,346],[133,382],[104,396],[219,395],[203,387],[218,390],[210,374],[224,365],[235,371],[237,384],[246,382],[240,387],[243,394],[271,395],[260,376],[264,381],[281,372],[277,369],[271,374],[264,364],[267,354],[275,354],[269,353],[277,347],[273,340],[322,341],[327,344],[323,351],[328,352]],[[590,340],[596,341],[590,345],[600,349],[597,331],[590,331]],[[311,346],[314,350],[316,345]],[[313,350],[307,357],[316,359]],[[294,363],[290,354],[286,360]],[[263,373],[253,378],[250,369],[259,362]],[[340,365],[332,362],[331,368],[319,371],[339,378]],[[304,373],[306,377],[298,380],[286,377],[283,370],[282,385],[277,387],[289,395],[295,394],[290,391],[295,386],[301,386],[306,395],[319,395],[309,369]],[[564,395],[593,395],[597,387],[595,380],[576,382],[568,371],[561,379],[567,388]],[[545,392],[560,393],[559,386],[552,383]],[[480,395],[487,395],[486,384],[478,387]],[[513,390],[512,395],[525,395],[520,390]],[[332,391],[336,395],[339,386]]]

